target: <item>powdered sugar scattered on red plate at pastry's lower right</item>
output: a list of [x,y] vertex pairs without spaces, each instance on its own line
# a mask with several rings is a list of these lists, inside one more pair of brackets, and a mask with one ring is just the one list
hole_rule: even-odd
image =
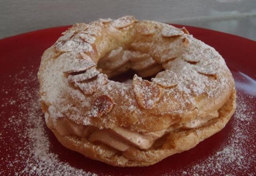
[[[242,172],[253,176],[256,164],[255,131],[250,129],[255,117],[253,100],[242,93],[237,94],[237,108],[230,123],[232,130],[222,146],[210,156],[195,161],[179,172],[186,176],[238,175]],[[164,174],[164,176],[172,173]]]

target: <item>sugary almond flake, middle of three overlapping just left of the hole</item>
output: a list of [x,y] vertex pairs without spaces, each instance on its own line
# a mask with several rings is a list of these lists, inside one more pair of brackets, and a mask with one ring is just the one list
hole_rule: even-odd
[[96,70],[95,67],[93,67],[93,68],[86,70],[86,72],[84,72],[82,74],[69,75],[68,81],[69,82],[80,82],[80,81],[88,80],[88,79],[94,78],[99,73],[100,72],[98,70]]

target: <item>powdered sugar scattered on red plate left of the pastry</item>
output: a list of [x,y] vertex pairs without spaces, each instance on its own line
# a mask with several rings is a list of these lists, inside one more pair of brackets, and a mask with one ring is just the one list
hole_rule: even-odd
[[[58,154],[51,151],[51,142],[38,97],[36,72],[28,71],[31,68],[24,68],[24,70],[20,75],[26,78],[21,79],[20,75],[12,75],[14,86],[3,87],[3,90],[8,90],[8,93],[16,92],[17,97],[14,99],[12,96],[5,96],[2,99],[4,103],[1,108],[10,108],[14,104],[16,108],[12,112],[0,111],[1,119],[10,116],[8,121],[2,122],[0,132],[1,152],[5,150],[8,153],[5,158],[2,158],[1,154],[1,162],[6,165],[6,170],[1,168],[0,175],[97,176],[95,173],[85,172],[71,166],[68,162],[61,161]],[[20,89],[18,85],[22,85],[22,88]]]

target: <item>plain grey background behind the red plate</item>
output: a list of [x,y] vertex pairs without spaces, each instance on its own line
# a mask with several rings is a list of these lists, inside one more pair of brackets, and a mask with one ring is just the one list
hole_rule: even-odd
[[256,40],[256,0],[0,0],[0,38],[124,15]]

